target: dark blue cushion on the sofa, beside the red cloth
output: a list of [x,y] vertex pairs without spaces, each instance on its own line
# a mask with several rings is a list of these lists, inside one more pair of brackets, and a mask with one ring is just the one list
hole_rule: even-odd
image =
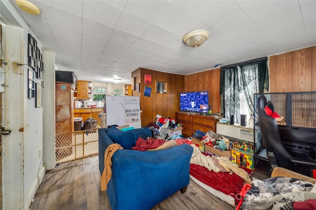
[[131,150],[136,144],[139,133],[132,130],[121,131],[116,127],[111,127],[108,131],[108,136],[122,148]]

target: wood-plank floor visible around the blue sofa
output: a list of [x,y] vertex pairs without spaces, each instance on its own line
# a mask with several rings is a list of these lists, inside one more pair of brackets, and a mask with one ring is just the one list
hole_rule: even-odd
[[[258,170],[252,177],[268,178],[269,169]],[[44,176],[30,210],[111,210],[100,177],[98,156],[60,164]],[[152,210],[234,209],[191,180],[186,193],[175,193]]]

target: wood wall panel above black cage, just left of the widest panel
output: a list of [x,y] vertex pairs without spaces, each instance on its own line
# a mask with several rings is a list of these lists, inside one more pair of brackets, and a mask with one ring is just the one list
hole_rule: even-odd
[[276,56],[276,92],[292,91],[292,52]]

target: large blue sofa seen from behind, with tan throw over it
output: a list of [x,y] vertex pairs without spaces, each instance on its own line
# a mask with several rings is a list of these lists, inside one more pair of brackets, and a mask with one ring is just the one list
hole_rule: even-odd
[[[110,129],[99,129],[101,175],[105,150],[114,143],[108,135]],[[137,138],[152,137],[150,128],[128,133],[135,133]],[[192,153],[193,148],[186,144],[156,151],[117,150],[112,156],[112,177],[106,191],[112,210],[149,210],[178,190],[184,193],[190,182]]]

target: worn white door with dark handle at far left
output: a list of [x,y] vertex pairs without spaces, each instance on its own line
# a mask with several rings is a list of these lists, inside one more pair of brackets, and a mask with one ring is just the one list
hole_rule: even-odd
[[1,93],[1,127],[11,130],[2,135],[2,209],[24,209],[23,171],[23,113],[24,63],[23,30],[2,25],[2,51],[5,71],[4,91]]

